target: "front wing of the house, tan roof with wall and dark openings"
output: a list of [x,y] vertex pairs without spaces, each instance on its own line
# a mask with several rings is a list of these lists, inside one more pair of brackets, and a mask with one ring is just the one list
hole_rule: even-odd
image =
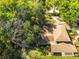
[[76,47],[71,44],[60,43],[51,45],[51,52],[58,56],[74,56],[77,53]]

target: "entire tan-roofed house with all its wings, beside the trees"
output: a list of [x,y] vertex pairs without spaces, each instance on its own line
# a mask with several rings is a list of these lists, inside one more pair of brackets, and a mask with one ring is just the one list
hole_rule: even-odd
[[[55,18],[54,18],[55,19]],[[41,44],[49,44],[51,54],[60,55],[60,56],[74,56],[77,53],[76,47],[73,45],[72,40],[70,39],[67,30],[70,30],[70,27],[65,23],[59,20],[55,20],[55,27],[52,27],[53,32],[49,32],[49,27],[44,27],[44,34],[42,36],[44,41]],[[40,40],[41,41],[41,40]]]

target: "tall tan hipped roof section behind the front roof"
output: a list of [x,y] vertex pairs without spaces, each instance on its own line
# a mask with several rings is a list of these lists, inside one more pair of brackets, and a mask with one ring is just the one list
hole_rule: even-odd
[[55,41],[71,41],[64,25],[56,26],[53,31],[53,37]]

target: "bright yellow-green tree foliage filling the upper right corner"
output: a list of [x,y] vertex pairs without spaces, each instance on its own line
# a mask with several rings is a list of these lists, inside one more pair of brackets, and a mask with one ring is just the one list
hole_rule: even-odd
[[46,0],[48,6],[54,4],[60,12],[62,20],[73,25],[79,18],[79,0]]

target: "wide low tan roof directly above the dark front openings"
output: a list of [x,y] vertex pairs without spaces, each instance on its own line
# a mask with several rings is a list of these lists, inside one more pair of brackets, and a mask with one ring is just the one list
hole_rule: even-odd
[[71,44],[55,44],[51,45],[51,52],[77,52],[76,47]]

